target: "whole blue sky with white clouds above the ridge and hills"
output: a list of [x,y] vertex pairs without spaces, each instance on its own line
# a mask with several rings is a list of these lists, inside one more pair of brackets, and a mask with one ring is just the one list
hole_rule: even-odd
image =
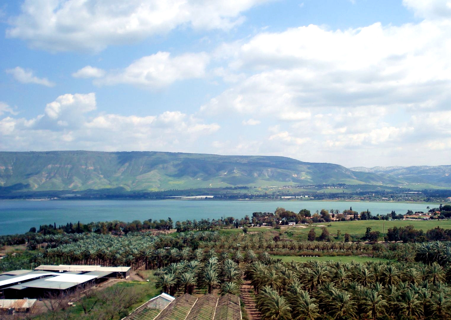
[[0,1],[0,151],[451,158],[451,0]]

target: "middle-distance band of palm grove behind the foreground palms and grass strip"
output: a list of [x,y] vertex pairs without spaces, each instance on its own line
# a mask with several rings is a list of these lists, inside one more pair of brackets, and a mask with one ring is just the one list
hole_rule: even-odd
[[[424,263],[446,264],[451,261],[449,242],[418,244],[368,245],[363,243],[336,243],[310,241],[274,241],[257,235],[221,235],[218,232],[187,232],[185,234],[152,236],[135,233],[124,237],[111,235],[70,235],[64,239],[60,235],[43,236],[46,243],[59,244],[47,246],[44,254],[48,264],[100,264],[104,266],[127,265],[145,269],[160,268],[167,264],[186,260],[192,250],[233,251],[244,254],[247,251],[285,248],[281,251],[292,255],[295,252],[308,255],[331,253],[372,254],[390,260],[413,262],[415,257]],[[254,249],[255,248],[255,249]],[[349,251],[351,250],[351,252]],[[349,252],[349,253],[346,253]],[[235,261],[239,264],[242,257]]]

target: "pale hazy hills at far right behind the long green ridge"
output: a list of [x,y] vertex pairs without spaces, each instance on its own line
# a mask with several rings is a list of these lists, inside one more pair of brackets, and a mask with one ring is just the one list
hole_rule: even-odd
[[354,167],[350,170],[385,174],[410,183],[428,183],[435,186],[451,185],[451,166]]

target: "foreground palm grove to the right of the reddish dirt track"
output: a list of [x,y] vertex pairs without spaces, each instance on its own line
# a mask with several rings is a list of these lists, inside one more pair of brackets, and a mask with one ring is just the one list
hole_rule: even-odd
[[437,263],[258,261],[245,274],[264,319],[451,318],[449,268]]

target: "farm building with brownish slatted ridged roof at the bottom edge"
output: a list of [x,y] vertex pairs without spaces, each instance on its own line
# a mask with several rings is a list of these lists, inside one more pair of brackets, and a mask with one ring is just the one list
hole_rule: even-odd
[[[164,296],[163,296],[164,295]],[[155,303],[157,300],[170,303]],[[166,305],[165,305],[166,304]],[[240,320],[241,308],[239,297],[226,294],[222,297],[206,294],[202,297],[194,297],[184,294],[176,299],[165,293],[147,301],[138,307],[132,314],[123,320]]]

